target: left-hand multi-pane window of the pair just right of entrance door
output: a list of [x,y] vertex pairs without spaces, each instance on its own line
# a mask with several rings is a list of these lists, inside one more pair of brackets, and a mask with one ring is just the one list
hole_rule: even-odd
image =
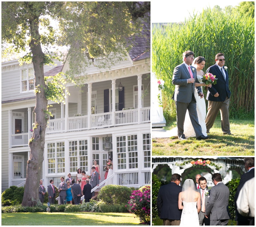
[[126,137],[116,137],[117,169],[126,169]]

